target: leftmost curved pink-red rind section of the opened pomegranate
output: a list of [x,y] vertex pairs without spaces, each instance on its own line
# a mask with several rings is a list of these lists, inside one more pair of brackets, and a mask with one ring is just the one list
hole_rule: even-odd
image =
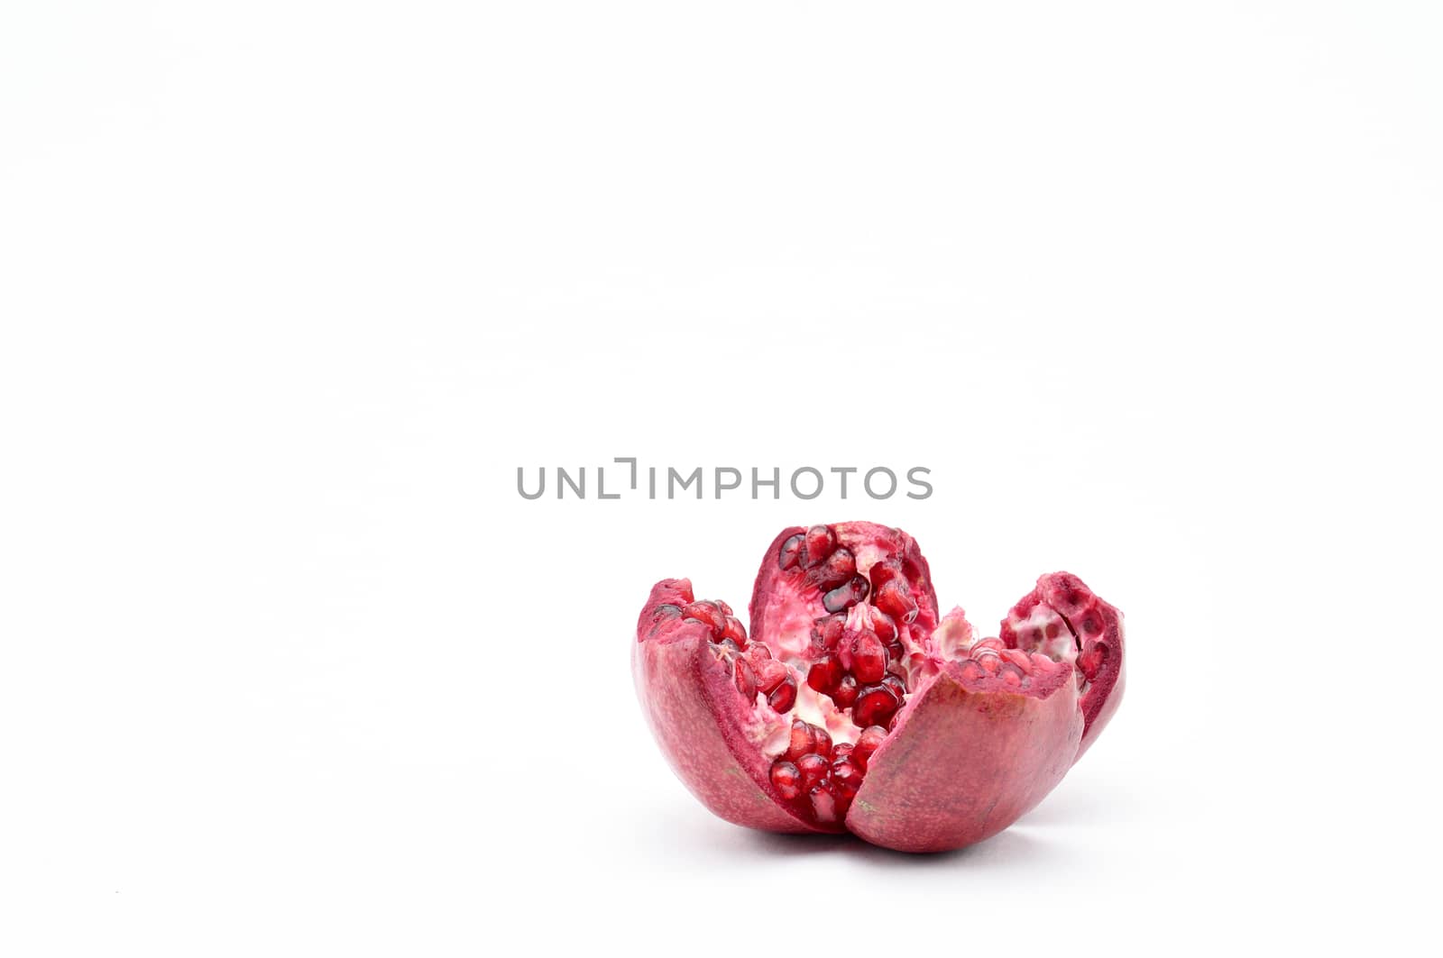
[[716,652],[706,625],[658,615],[662,605],[691,602],[691,583],[665,579],[636,623],[632,675],[642,714],[671,769],[713,814],[747,828],[781,832],[821,828],[792,811],[771,785],[772,760],[746,736],[750,706],[736,690],[732,667]]

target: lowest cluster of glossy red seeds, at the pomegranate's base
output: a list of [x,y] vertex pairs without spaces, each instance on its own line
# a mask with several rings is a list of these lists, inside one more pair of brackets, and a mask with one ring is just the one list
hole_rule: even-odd
[[886,737],[886,729],[872,726],[861,731],[856,744],[833,744],[825,729],[797,718],[786,752],[772,762],[772,786],[789,801],[805,795],[817,822],[841,821],[861,788],[872,753]]

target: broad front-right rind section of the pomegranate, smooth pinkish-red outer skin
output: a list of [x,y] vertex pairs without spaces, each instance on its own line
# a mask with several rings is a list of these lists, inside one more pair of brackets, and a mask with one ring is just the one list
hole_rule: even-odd
[[872,755],[847,828],[898,851],[990,838],[1062,781],[1082,724],[1071,677],[1043,695],[980,691],[948,662]]

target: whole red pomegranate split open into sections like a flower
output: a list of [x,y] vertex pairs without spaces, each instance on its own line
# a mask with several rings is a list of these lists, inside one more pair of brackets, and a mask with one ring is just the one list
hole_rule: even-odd
[[1042,576],[977,638],[961,609],[938,615],[916,540],[873,522],[784,529],[749,612],[750,638],[667,579],[632,646],[662,752],[739,825],[981,841],[1052,791],[1123,695],[1123,616],[1076,576]]

